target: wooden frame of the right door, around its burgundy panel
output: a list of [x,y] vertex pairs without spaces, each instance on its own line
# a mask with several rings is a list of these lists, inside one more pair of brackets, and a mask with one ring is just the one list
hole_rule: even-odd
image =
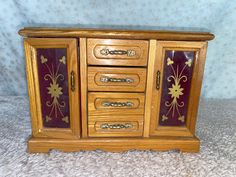
[[[152,88],[152,92],[148,95],[148,97],[151,98],[152,102],[152,107],[149,108],[151,109],[150,136],[194,136],[203,70],[206,58],[206,48],[207,42],[157,41],[156,56],[155,58],[150,58],[149,60],[149,62],[155,60],[155,64],[152,66],[154,67],[154,69],[148,68],[153,72],[152,74],[154,78],[152,83],[149,83],[151,84],[149,87]],[[156,90],[154,85],[156,83],[155,75],[157,71],[159,70],[161,71],[161,74],[163,73],[163,58],[166,50],[184,50],[196,52],[185,127],[159,126],[159,111],[163,82],[162,75],[160,81],[160,89]]]

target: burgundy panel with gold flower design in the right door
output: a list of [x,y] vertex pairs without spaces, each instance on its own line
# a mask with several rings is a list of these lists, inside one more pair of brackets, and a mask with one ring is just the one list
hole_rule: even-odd
[[194,51],[165,51],[159,125],[186,125],[194,59]]

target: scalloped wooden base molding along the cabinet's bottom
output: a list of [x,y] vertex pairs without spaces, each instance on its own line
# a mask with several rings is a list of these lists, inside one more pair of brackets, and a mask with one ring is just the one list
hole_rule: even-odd
[[198,152],[200,141],[196,137],[176,138],[86,138],[79,140],[59,140],[31,138],[28,142],[28,152],[47,153],[51,149],[63,152],[76,152],[81,150],[104,150],[109,152],[122,152],[130,149],[137,150],[180,150],[181,152]]

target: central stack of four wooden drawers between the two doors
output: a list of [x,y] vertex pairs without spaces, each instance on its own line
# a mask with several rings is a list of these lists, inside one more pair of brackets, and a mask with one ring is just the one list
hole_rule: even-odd
[[148,41],[88,39],[90,137],[142,136]]

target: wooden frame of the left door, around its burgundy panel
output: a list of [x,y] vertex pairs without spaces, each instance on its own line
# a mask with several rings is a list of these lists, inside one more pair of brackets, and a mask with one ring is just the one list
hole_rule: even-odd
[[36,60],[37,48],[66,48],[68,78],[70,78],[69,76],[71,71],[74,71],[75,78],[78,80],[77,40],[65,38],[28,38],[24,40],[24,46],[33,137],[78,139],[80,137],[80,109],[78,108],[80,104],[78,82],[75,82],[75,90],[72,92],[70,88],[71,81],[68,79],[71,122],[70,128],[44,128],[42,123],[38,67]]

